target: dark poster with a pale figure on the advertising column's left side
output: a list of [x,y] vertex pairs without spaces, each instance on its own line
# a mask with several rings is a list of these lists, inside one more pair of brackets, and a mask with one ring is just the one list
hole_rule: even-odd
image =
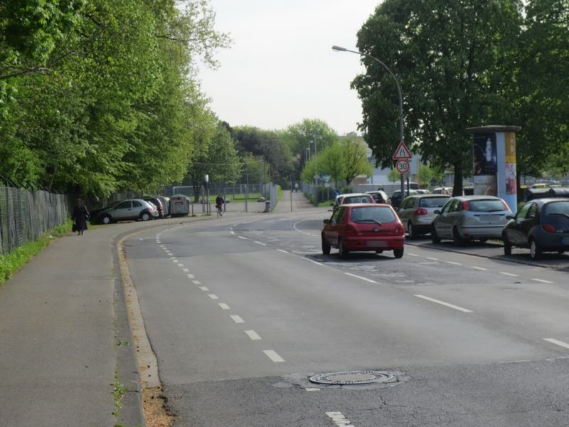
[[475,134],[472,154],[474,161],[474,194],[496,196],[496,174],[498,172],[496,134]]

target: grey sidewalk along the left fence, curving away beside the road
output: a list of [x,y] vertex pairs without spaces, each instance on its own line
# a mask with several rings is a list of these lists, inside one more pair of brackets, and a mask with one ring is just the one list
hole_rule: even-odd
[[[311,207],[293,193],[293,208]],[[284,191],[275,212],[290,212]],[[249,214],[260,214],[261,204]],[[251,206],[253,208],[253,206]],[[244,213],[243,213],[244,214]],[[238,216],[228,212],[228,216]],[[225,216],[224,216],[225,217]],[[144,426],[116,242],[134,231],[215,216],[118,223],[55,239],[0,286],[0,426]],[[127,392],[113,415],[113,384]]]

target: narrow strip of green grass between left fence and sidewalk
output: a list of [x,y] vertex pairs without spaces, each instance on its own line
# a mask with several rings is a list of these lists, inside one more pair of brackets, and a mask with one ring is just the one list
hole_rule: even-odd
[[71,230],[71,221],[65,221],[60,226],[52,228],[45,233],[37,241],[31,241],[16,248],[14,251],[6,255],[0,255],[0,285],[6,283],[6,280],[12,277],[16,271],[26,265],[33,255],[39,253],[43,248],[49,245],[56,237],[65,236]]

